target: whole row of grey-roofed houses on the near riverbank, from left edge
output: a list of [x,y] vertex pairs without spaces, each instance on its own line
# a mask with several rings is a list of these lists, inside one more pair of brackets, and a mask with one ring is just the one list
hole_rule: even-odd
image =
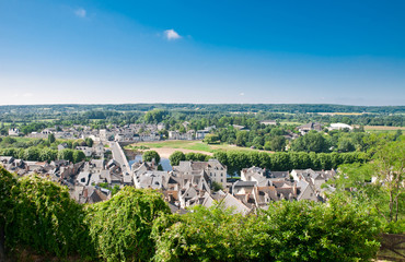
[[[217,159],[180,162],[171,171],[158,169],[154,162],[136,162],[130,174],[115,159],[91,159],[72,164],[25,162],[0,157],[0,164],[19,176],[37,174],[67,186],[71,198],[79,203],[96,203],[112,198],[112,189],[130,186],[155,189],[169,203],[172,212],[184,213],[194,205],[211,206],[216,202],[234,212],[248,214],[266,209],[270,202],[325,201],[331,187],[322,187],[335,176],[334,170],[270,171],[259,167],[245,168],[241,180],[227,181],[227,167]],[[216,189],[216,191],[213,190]]]

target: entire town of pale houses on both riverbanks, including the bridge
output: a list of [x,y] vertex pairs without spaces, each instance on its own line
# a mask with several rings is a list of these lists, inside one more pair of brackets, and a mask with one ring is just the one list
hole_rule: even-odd
[[[275,121],[263,121],[264,124],[276,124]],[[187,122],[184,123],[185,126]],[[207,127],[197,132],[180,133],[170,131],[169,140],[202,140],[216,127]],[[238,126],[239,130],[244,127]],[[27,138],[59,140],[91,140],[91,146],[77,145],[89,160],[71,163],[66,159],[35,162],[15,159],[12,156],[0,156],[0,163],[9,171],[19,176],[37,174],[67,186],[70,195],[79,203],[96,203],[108,200],[113,193],[125,186],[135,188],[151,188],[159,190],[173,213],[184,213],[194,205],[211,206],[220,202],[235,212],[248,214],[257,209],[266,209],[268,203],[279,200],[311,200],[325,202],[327,193],[334,188],[324,184],[336,172],[335,170],[292,169],[291,171],[269,170],[261,167],[243,168],[240,179],[229,179],[227,166],[218,159],[207,162],[182,160],[171,170],[159,170],[155,159],[144,162],[132,160],[129,164],[124,144],[134,142],[160,141],[158,132],[164,124],[128,124],[113,127],[111,130],[92,130],[85,126],[71,128],[47,128],[40,132],[28,133]],[[344,123],[331,124],[331,130],[352,127]],[[139,134],[139,131],[142,134]],[[322,131],[320,123],[309,123],[297,128],[300,135],[311,130]],[[148,133],[148,134],[143,134]],[[18,136],[19,129],[9,130],[10,136]],[[292,135],[291,135],[292,134]],[[290,136],[298,138],[296,133]],[[67,143],[60,143],[58,151],[68,148]],[[323,186],[324,184],[324,186]]]

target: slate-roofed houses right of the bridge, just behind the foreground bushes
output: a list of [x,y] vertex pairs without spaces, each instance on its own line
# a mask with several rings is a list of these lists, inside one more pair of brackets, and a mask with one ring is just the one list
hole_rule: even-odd
[[[258,167],[241,171],[241,180],[228,183],[227,167],[217,159],[208,162],[180,162],[172,171],[159,171],[153,163],[132,165],[134,186],[160,190],[173,212],[184,212],[193,205],[211,206],[220,202],[234,212],[248,214],[266,209],[270,202],[289,200],[326,200],[323,188],[335,176],[334,170],[270,171]],[[212,184],[221,186],[213,191]]]

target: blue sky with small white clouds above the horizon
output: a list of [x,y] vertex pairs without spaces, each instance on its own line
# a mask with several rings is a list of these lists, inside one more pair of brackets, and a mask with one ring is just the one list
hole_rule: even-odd
[[0,105],[405,105],[405,1],[0,0]]

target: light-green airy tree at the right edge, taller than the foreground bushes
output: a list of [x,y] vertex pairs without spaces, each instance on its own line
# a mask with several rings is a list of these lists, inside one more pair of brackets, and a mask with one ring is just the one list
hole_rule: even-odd
[[396,231],[395,226],[403,227],[397,222],[405,217],[405,140],[377,141],[370,151],[372,162],[340,166],[342,175],[329,183],[336,187],[338,193],[372,206],[387,231]]

